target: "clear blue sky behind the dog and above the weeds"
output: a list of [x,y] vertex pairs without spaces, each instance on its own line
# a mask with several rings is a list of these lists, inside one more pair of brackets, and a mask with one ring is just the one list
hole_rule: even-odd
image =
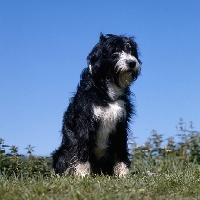
[[200,1],[0,1],[0,138],[50,155],[62,116],[100,32],[135,36],[142,74],[131,86],[142,145],[155,129],[200,130]]

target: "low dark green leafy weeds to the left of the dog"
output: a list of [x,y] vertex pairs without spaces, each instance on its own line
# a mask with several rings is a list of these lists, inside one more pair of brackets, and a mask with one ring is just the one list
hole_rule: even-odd
[[[9,153],[6,153],[9,148]],[[18,147],[4,145],[0,138],[0,172],[6,175],[49,175],[51,173],[51,159],[48,157],[36,157],[32,153],[34,147],[28,145],[27,156],[18,153]]]

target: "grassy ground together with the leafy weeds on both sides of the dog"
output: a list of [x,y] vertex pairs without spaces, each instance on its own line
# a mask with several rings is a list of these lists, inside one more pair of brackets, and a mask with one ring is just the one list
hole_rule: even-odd
[[0,200],[200,200],[200,132],[183,122],[179,130],[178,142],[152,131],[143,146],[132,143],[131,174],[123,178],[60,177],[51,158],[35,157],[31,145],[24,156],[0,139]]

